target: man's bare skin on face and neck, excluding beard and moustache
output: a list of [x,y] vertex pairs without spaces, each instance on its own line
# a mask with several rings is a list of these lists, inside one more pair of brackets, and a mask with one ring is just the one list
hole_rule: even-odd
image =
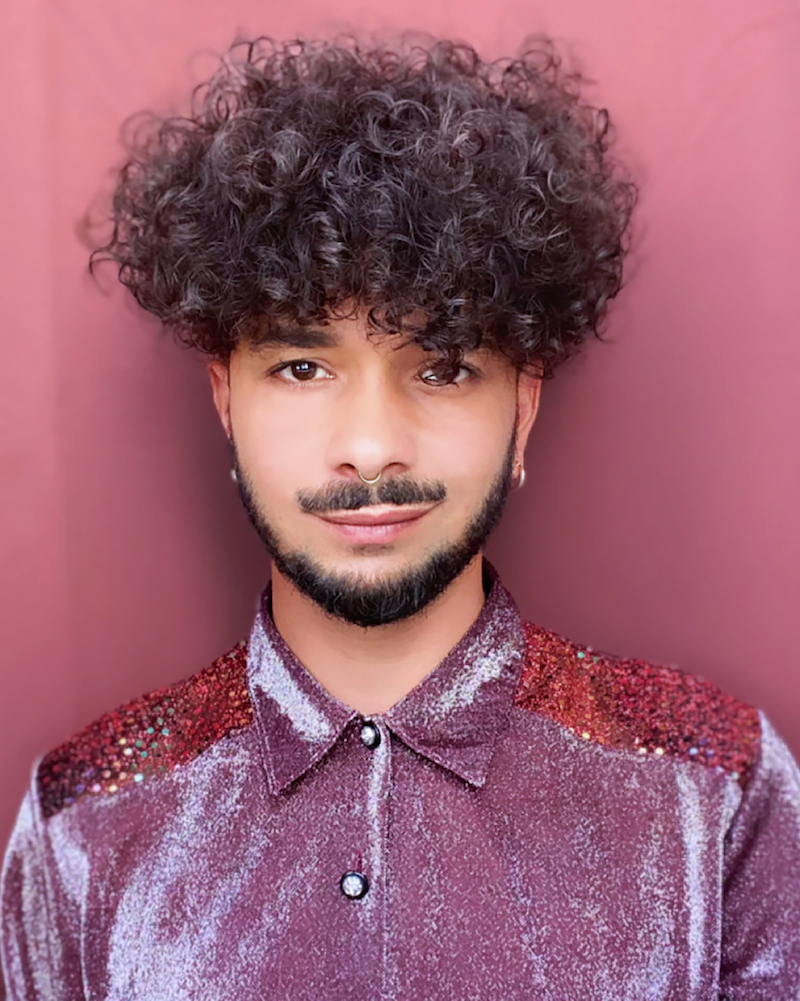
[[[496,481],[517,425],[515,472],[536,417],[541,379],[479,350],[448,383],[437,356],[396,335],[368,335],[363,310],[288,342],[239,344],[208,373],[222,426],[281,549],[326,571],[375,581],[460,540]],[[406,473],[436,479],[446,499],[313,515],[296,493]],[[377,520],[394,524],[353,524]],[[397,519],[401,519],[397,523]],[[361,628],[327,616],[273,569],[272,614],[289,649],[332,696],[365,716],[385,712],[461,640],[484,604],[476,558],[422,613]]]

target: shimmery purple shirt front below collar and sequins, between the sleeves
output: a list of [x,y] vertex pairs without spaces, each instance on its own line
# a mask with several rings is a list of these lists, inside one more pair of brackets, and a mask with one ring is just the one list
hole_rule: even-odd
[[278,797],[211,776],[92,867],[90,997],[710,1001],[719,811],[623,765],[476,788],[383,733]]

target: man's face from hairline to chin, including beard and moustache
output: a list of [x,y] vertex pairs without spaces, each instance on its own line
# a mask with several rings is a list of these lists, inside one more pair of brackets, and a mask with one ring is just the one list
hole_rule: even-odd
[[[443,372],[418,344],[370,336],[362,312],[241,344],[209,370],[276,569],[359,625],[419,611],[480,551],[539,393],[537,379],[486,349]],[[343,604],[320,597],[320,581]],[[404,601],[410,589],[417,598]],[[382,597],[348,613],[347,593]]]

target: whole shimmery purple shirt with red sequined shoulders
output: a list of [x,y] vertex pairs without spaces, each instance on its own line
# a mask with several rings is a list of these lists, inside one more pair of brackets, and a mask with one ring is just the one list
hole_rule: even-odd
[[800,998],[800,774],[754,710],[525,627],[494,579],[371,723],[264,604],[246,648],[47,755],[9,998]]

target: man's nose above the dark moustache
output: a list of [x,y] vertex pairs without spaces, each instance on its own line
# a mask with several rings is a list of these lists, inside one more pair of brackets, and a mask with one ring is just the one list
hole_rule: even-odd
[[408,472],[414,460],[413,419],[402,392],[374,373],[353,379],[332,414],[332,470],[364,481]]

